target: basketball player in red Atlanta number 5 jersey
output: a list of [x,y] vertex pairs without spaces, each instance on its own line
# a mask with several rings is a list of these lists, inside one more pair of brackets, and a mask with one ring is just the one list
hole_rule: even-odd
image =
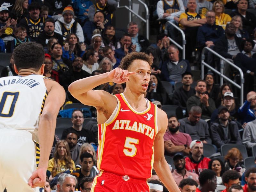
[[[142,52],[127,54],[120,68],[73,82],[69,92],[98,111],[99,148],[92,192],[149,192],[147,178],[154,166],[169,191],[180,192],[164,158],[167,116],[144,98],[152,62]],[[94,87],[126,82],[124,93],[111,95]]]

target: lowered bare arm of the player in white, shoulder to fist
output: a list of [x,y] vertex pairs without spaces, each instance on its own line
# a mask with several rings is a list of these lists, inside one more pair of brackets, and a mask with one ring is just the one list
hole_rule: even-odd
[[44,186],[46,169],[48,166],[49,155],[52,149],[54,132],[56,128],[56,118],[60,107],[65,101],[65,91],[60,84],[51,80],[44,80],[48,91],[43,113],[38,124],[38,139],[40,145],[40,160],[38,169],[32,173],[28,184],[31,187]]

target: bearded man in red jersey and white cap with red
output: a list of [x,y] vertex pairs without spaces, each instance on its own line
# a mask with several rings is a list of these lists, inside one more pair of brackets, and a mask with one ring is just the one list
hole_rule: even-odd
[[[192,173],[200,175],[204,169],[208,169],[208,164],[211,159],[203,156],[203,142],[200,140],[193,140],[190,143],[191,155],[185,158],[185,168]],[[200,181],[200,179],[199,179]],[[200,182],[201,185],[201,182]],[[214,191],[214,190],[213,190]]]

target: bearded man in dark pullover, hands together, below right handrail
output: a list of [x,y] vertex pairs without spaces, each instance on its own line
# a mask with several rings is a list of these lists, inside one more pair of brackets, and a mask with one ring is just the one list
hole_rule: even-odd
[[196,82],[196,94],[188,98],[187,109],[190,109],[193,106],[199,106],[202,109],[202,119],[211,119],[212,112],[216,109],[215,102],[212,98],[206,94],[206,82],[204,80],[198,80]]

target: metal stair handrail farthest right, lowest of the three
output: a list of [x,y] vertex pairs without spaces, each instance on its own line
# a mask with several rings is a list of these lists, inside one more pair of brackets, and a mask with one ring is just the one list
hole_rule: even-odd
[[[204,62],[204,52],[205,52],[205,50],[208,50],[208,51],[212,52],[214,55],[216,55],[217,57],[220,58],[220,71],[217,71],[215,68],[211,67],[210,65],[208,65],[207,63]],[[222,57],[220,54],[213,51],[209,47],[204,47],[204,49],[202,50],[201,58],[202,58],[202,61],[201,61],[201,78],[204,79],[204,66],[205,66],[205,67],[211,69],[213,72],[215,72],[216,74],[218,74],[220,76],[220,86],[223,84],[223,78],[226,79],[229,83],[235,85],[238,89],[241,90],[240,91],[240,104],[242,106],[243,103],[244,103],[244,73],[243,73],[242,69],[237,67],[234,63],[232,63],[229,60],[227,60],[226,58]],[[240,79],[241,79],[240,85],[237,84],[236,82],[232,81],[231,79],[229,79],[227,76],[223,75],[223,68],[224,68],[223,61],[227,62],[229,65],[231,65],[232,67],[236,68],[239,71]]]

